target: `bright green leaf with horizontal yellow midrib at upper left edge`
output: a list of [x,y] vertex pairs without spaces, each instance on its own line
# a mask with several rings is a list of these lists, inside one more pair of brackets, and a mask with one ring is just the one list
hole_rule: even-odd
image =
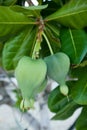
[[0,6],[0,37],[17,33],[21,28],[33,23],[22,13],[14,12],[10,7]]

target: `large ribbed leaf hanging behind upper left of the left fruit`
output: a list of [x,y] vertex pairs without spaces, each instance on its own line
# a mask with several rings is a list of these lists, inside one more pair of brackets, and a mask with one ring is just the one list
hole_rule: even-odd
[[17,62],[24,55],[31,56],[36,40],[36,29],[31,26],[25,29],[19,35],[11,38],[5,43],[3,49],[3,66],[7,70],[12,70],[16,67]]

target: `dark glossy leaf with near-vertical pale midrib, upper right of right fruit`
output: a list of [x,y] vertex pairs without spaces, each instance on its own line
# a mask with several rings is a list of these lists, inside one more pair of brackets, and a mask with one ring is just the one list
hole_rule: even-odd
[[87,36],[83,30],[63,29],[60,33],[61,50],[65,52],[72,63],[80,63],[87,53]]

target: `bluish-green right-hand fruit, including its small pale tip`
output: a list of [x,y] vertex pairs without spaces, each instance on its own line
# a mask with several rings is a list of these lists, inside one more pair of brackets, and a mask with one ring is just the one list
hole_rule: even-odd
[[[48,56],[45,58],[45,62],[47,64],[47,74],[50,78],[55,80],[57,83],[59,83],[60,86],[65,85],[66,82],[66,76],[69,71],[70,67],[70,60],[69,57],[62,52],[56,53],[54,55]],[[61,88],[61,87],[60,87]],[[63,92],[63,89],[61,88],[61,92],[66,95],[68,94],[68,89],[65,89],[65,93]]]

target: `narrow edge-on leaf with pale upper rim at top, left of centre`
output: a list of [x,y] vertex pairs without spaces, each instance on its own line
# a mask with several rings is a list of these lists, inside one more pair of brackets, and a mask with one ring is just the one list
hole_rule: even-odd
[[38,5],[38,6],[29,6],[29,7],[21,7],[18,5],[11,6],[10,8],[15,12],[22,12],[28,16],[38,16],[40,17],[40,11],[47,8],[48,5]]

